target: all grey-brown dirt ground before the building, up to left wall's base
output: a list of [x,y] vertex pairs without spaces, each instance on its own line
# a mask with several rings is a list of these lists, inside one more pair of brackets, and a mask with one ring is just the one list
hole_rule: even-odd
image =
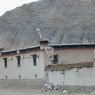
[[32,80],[1,80],[0,95],[95,95],[95,91],[89,93],[63,93],[62,90],[44,91],[44,82]]

